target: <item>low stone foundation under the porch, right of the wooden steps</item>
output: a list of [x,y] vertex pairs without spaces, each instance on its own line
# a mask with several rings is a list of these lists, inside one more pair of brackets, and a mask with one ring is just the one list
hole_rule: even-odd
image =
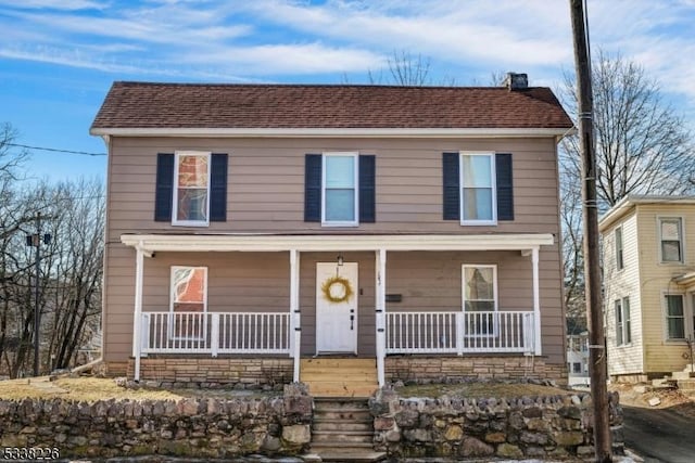
[[567,385],[565,364],[549,364],[532,357],[420,357],[389,356],[386,361],[387,382],[431,380],[552,380]]

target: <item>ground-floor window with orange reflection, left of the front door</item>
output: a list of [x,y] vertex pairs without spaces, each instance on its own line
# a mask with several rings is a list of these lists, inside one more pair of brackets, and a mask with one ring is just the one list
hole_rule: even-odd
[[206,311],[207,268],[172,267],[172,334],[178,338],[203,338]]

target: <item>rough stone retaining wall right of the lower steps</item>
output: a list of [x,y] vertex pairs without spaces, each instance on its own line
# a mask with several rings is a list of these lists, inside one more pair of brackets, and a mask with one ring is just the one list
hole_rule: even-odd
[[[622,454],[622,410],[609,396],[614,452]],[[395,458],[586,458],[593,449],[591,398],[403,399],[381,389],[370,399],[375,448]]]

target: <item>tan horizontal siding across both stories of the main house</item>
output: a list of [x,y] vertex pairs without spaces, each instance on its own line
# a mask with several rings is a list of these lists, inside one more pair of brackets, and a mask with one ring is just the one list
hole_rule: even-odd
[[[131,353],[135,250],[121,244],[123,233],[309,232],[334,233],[553,233],[559,236],[555,141],[548,139],[193,139],[112,138],[109,156],[108,245],[104,290],[104,356],[123,361]],[[208,228],[173,227],[155,222],[156,154],[201,150],[229,154],[227,221]],[[329,151],[358,151],[376,155],[376,223],[329,230],[306,223],[304,217],[304,155]],[[442,220],[442,153],[495,151],[513,153],[515,220],[496,227],[462,227]],[[157,254],[146,259],[144,310],[168,310],[168,267],[210,268],[208,310],[288,310],[287,253]],[[389,254],[387,292],[413,293],[405,304],[460,308],[460,263],[496,261],[500,307],[532,309],[531,261],[520,253],[480,253],[479,259],[445,255],[415,258]],[[446,253],[442,253],[446,254]],[[233,258],[231,258],[233,257]],[[557,245],[541,249],[540,286],[543,355],[548,363],[565,363],[561,266]],[[333,254],[301,255],[302,353],[315,353],[315,262],[332,261]],[[354,260],[350,260],[354,259]],[[420,288],[399,282],[399,259],[417,267]],[[345,255],[359,263],[359,355],[374,355],[374,254]],[[429,267],[428,267],[429,266]],[[430,272],[431,270],[431,272]],[[396,272],[396,276],[390,272]],[[403,273],[403,272],[401,272]],[[266,274],[268,279],[266,279]],[[454,278],[454,275],[457,275]],[[452,283],[441,294],[430,285]],[[396,285],[401,284],[401,288]],[[393,287],[391,287],[393,285]]]

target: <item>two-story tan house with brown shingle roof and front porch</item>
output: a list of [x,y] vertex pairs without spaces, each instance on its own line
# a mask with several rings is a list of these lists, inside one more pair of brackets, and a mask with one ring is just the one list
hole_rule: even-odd
[[115,82],[90,131],[109,150],[109,370],[311,383],[327,357],[334,382],[362,360],[374,387],[565,378],[556,146],[572,123],[511,77]]

